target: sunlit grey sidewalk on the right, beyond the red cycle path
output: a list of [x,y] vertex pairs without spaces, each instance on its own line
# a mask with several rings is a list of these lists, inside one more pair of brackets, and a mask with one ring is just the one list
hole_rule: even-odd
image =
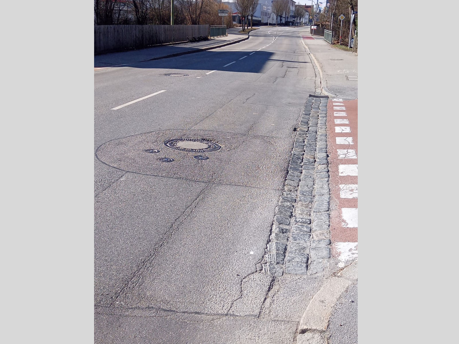
[[321,36],[304,33],[302,38],[319,68],[322,91],[331,97],[357,99],[357,55],[333,48]]

